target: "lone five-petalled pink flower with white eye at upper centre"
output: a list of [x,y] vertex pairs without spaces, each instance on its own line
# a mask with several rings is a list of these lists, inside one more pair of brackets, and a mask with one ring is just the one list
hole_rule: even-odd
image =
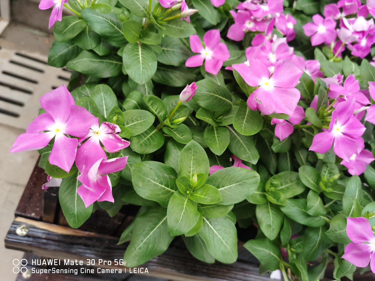
[[230,57],[228,48],[224,43],[220,43],[220,32],[217,29],[208,30],[203,36],[203,42],[205,48],[203,48],[198,35],[190,36],[191,50],[200,53],[200,55],[188,58],[185,65],[187,67],[201,66],[205,60],[204,69],[216,75],[223,66],[223,62]]

